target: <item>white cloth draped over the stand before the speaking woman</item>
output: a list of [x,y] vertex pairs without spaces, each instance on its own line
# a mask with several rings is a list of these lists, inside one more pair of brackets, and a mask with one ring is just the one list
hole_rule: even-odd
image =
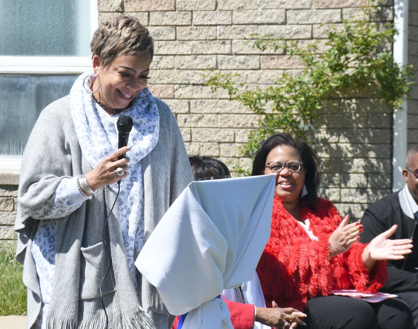
[[270,237],[275,177],[192,182],[135,265],[184,329],[232,329],[224,289],[250,281]]

